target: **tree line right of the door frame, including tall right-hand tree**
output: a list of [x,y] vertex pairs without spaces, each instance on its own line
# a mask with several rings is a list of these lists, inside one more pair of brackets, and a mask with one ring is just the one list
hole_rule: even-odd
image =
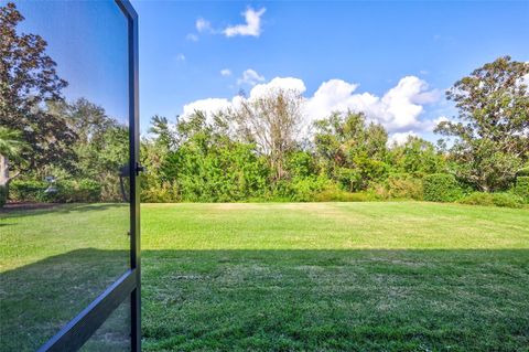
[[315,121],[311,138],[302,140],[303,97],[280,88],[213,116],[197,110],[174,125],[154,116],[142,140],[143,163],[151,169],[142,196],[149,202],[420,200],[423,179],[432,174],[441,174],[441,183],[453,178],[461,196],[506,192],[529,166],[528,74],[527,63],[505,56],[457,81],[446,97],[460,114],[436,126],[446,138],[438,145],[411,136],[389,145],[384,126],[350,110]]

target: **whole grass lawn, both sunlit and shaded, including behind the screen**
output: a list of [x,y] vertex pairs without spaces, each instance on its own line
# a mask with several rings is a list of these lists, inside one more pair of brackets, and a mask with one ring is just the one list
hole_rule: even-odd
[[[69,303],[94,273],[116,275],[126,252],[108,231],[121,210],[69,206],[0,214],[0,351],[45,330],[46,312],[24,309],[42,282],[12,282],[74,263],[84,279],[63,285]],[[65,234],[86,216],[99,221]],[[529,351],[527,209],[144,204],[142,228],[144,351]],[[56,309],[52,296],[41,306]]]

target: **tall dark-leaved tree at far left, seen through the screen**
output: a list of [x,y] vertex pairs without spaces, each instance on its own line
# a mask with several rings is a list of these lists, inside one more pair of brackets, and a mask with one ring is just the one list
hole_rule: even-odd
[[0,7],[0,125],[18,130],[29,143],[21,156],[29,170],[51,163],[72,168],[76,135],[62,116],[43,108],[63,99],[66,82],[46,54],[47,43],[40,35],[18,33],[23,20],[14,3]]

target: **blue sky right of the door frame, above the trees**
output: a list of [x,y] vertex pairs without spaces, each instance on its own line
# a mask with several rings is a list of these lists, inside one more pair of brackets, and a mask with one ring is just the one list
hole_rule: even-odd
[[[350,95],[368,93],[382,99],[400,79],[414,76],[418,79],[409,82],[409,89],[421,85],[421,93],[435,90],[436,96],[418,99],[403,93],[403,99],[411,94],[411,104],[421,106],[420,113],[409,114],[419,115],[408,125],[392,124],[391,117],[382,121],[392,132],[413,131],[434,139],[428,121],[454,113],[444,102],[445,88],[500,55],[529,61],[527,1],[132,3],[140,17],[143,130],[154,114],[174,118],[186,104],[229,100],[239,89],[249,93],[252,84],[274,77],[301,79],[307,98],[322,83],[341,79],[358,85]],[[260,14],[258,33],[228,36],[227,28],[247,24],[248,10]],[[227,71],[223,75],[223,70],[230,75]],[[259,79],[240,79],[247,70]],[[353,107],[363,105],[347,94],[343,99],[353,100]],[[409,108],[406,102],[386,105],[371,114]]]

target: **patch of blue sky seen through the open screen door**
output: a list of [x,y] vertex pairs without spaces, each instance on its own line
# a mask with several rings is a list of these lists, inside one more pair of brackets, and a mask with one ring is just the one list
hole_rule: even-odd
[[[0,4],[7,1],[0,0]],[[86,97],[128,121],[127,21],[111,1],[20,1],[19,31],[40,34],[68,100]]]

